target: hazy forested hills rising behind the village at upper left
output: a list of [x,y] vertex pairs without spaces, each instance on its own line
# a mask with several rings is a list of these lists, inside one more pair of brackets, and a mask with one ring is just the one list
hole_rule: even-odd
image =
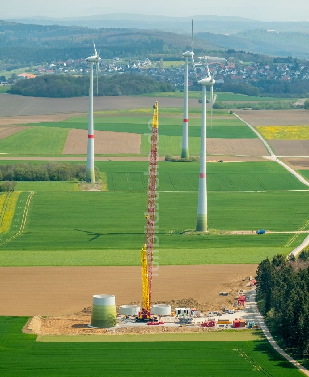
[[[189,35],[158,30],[90,29],[80,26],[27,25],[0,21],[0,66],[24,67],[43,61],[86,58],[93,52],[93,40],[101,58],[148,57],[181,54],[189,48]],[[211,43],[196,40],[196,51],[216,49]]]

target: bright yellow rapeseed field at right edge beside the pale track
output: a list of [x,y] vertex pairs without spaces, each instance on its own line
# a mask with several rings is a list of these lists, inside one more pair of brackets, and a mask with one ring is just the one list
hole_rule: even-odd
[[258,126],[256,129],[265,139],[307,140],[309,126]]

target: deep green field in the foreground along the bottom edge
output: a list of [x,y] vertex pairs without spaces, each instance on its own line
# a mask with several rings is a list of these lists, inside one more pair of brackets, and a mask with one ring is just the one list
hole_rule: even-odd
[[246,377],[301,376],[260,333],[254,340],[197,341],[190,342],[190,347],[187,342],[157,342],[155,356],[150,357],[153,343],[147,342],[35,342],[36,335],[21,333],[27,319],[0,317],[3,376],[135,376],[144,371],[141,360],[150,375],[225,377],[228,371],[241,370]]

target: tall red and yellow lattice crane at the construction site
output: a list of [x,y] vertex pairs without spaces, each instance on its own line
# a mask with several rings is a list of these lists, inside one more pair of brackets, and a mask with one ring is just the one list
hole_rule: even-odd
[[154,105],[151,127],[151,153],[148,180],[148,208],[146,211],[146,243],[141,251],[142,265],[142,297],[143,305],[136,317],[136,321],[150,321],[151,318],[151,285],[153,265],[153,238],[156,207],[156,178],[157,178],[157,140],[158,140],[158,101]]

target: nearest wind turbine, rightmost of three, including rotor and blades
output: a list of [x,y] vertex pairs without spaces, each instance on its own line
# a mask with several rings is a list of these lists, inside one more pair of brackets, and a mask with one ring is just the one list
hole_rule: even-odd
[[[213,112],[213,84],[214,74],[210,75],[208,66],[208,77],[203,78],[198,81],[199,85],[202,85],[203,96],[202,96],[202,125],[201,125],[201,135],[200,135],[200,174],[199,174],[199,195],[197,201],[197,221],[196,221],[196,231],[197,232],[207,232],[207,185],[206,185],[206,87],[209,87],[211,91],[210,108],[211,114]],[[215,71],[214,71],[215,73]]]

